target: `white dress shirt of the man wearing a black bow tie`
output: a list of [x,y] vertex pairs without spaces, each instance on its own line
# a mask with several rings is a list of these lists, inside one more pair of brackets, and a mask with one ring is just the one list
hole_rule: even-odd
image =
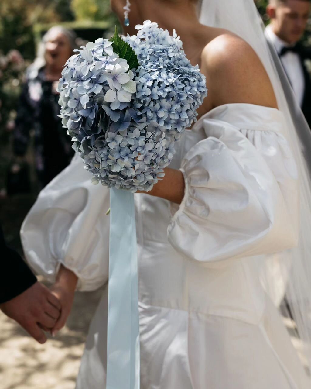
[[[284,42],[280,39],[272,30],[272,25],[268,25],[265,31],[266,38],[269,39],[277,53],[280,55],[283,47],[291,46],[287,42]],[[287,73],[290,83],[292,84],[292,88],[294,89],[294,93],[297,97],[297,101],[300,106],[302,106],[303,98],[304,98],[304,73],[301,65],[301,60],[297,53],[292,51],[288,51],[286,54],[280,57],[282,65]]]

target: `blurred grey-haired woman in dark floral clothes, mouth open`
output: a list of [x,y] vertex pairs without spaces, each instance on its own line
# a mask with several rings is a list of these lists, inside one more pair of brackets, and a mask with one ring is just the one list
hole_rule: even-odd
[[[72,142],[62,128],[56,87],[63,65],[72,55],[76,36],[61,26],[45,33],[38,58],[28,68],[14,130],[14,154],[23,157],[35,131],[35,160],[41,186],[48,184],[73,156]],[[57,154],[57,158],[56,158]]]

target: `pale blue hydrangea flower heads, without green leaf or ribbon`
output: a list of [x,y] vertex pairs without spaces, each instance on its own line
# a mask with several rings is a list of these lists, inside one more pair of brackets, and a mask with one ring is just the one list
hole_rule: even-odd
[[132,192],[148,191],[164,176],[175,141],[207,95],[205,77],[175,31],[170,36],[151,21],[135,28],[137,35],[123,40],[137,69],[101,38],[70,57],[59,81],[63,126],[93,182]]

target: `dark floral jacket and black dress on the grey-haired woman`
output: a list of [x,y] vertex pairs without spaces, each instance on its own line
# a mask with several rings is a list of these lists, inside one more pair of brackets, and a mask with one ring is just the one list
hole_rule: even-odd
[[74,154],[71,138],[58,117],[59,95],[54,84],[45,79],[44,68],[29,68],[14,130],[14,153],[17,156],[24,156],[31,132],[34,132],[36,169],[43,185],[61,172]]

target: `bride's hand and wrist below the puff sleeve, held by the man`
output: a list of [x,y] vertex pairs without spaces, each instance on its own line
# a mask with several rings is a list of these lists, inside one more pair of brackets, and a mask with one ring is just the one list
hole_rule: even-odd
[[52,294],[54,294],[61,303],[61,314],[51,330],[53,336],[65,326],[72,308],[77,281],[78,277],[75,273],[61,265],[56,282],[51,287]]

